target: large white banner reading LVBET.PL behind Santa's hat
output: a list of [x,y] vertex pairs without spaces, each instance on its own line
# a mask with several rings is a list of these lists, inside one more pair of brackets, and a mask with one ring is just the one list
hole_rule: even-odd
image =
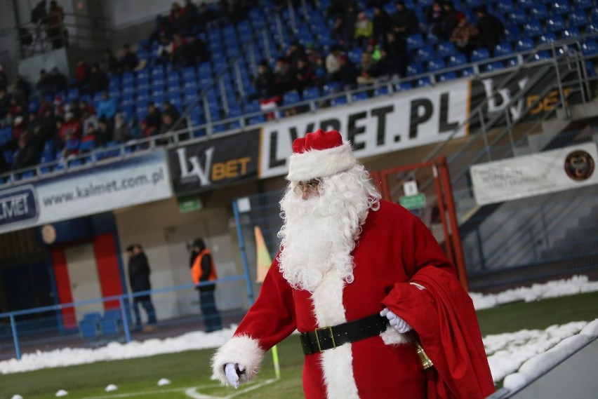
[[[358,158],[442,142],[467,120],[469,90],[469,81],[460,79],[266,123],[260,178],[286,174],[293,140],[317,129],[338,130]],[[466,134],[467,126],[455,137]]]

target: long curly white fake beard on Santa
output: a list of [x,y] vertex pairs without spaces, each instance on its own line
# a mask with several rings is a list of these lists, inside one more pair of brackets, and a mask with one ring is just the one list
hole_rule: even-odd
[[[373,189],[354,174],[324,178],[319,196],[307,200],[288,184],[281,200],[284,225],[279,231],[282,251],[280,270],[293,288],[314,290],[326,273],[335,270],[346,283],[353,281],[352,250],[361,233],[369,208],[377,205],[369,195]],[[371,189],[368,190],[368,189]]]

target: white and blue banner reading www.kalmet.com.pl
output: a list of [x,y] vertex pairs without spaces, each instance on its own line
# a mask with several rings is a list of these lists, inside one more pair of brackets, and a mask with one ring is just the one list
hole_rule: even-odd
[[159,149],[0,190],[0,234],[171,196]]

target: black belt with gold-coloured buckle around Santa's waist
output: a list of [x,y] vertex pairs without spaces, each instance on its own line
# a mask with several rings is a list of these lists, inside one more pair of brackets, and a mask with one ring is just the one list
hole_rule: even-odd
[[312,353],[326,351],[326,349],[334,349],[337,346],[347,344],[347,342],[375,337],[383,332],[387,325],[388,319],[376,313],[347,323],[302,332],[299,338],[303,353],[311,355]]

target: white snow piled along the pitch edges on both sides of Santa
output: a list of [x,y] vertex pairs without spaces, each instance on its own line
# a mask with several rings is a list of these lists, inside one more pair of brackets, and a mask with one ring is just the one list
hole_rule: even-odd
[[[598,282],[590,282],[585,276],[576,276],[569,280],[535,284],[530,288],[507,290],[496,295],[472,292],[470,296],[476,309],[488,309],[508,302],[521,300],[531,302],[592,291],[598,291]],[[21,360],[1,361],[0,374],[216,348],[232,337],[235,328],[235,325],[231,325],[229,328],[209,334],[189,332],[179,337],[147,339],[128,344],[113,342],[96,349],[77,348],[25,353]],[[533,379],[531,370],[536,370],[536,374],[538,370],[543,370],[541,367],[536,367],[539,363],[545,367],[555,365],[595,337],[598,337],[598,319],[552,325],[546,330],[521,330],[488,335],[484,337],[484,346],[494,381],[505,379],[505,384],[512,381],[512,386],[519,386],[524,384],[524,381]]]

